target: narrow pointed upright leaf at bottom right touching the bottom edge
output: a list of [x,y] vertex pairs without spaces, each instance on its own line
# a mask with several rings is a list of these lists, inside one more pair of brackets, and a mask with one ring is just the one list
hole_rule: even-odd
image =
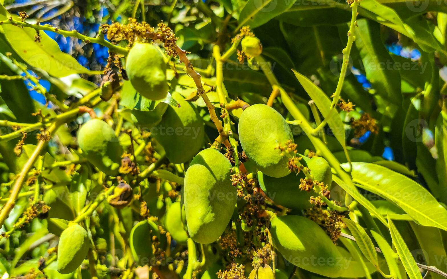
[[417,264],[414,261],[414,258],[410,250],[405,244],[404,239],[397,230],[396,226],[389,218],[388,218],[388,226],[391,233],[392,243],[394,247],[396,247],[397,254],[399,254],[399,258],[401,258],[402,264],[404,265],[405,271],[407,272],[409,278],[422,279],[421,272],[419,272],[419,268],[417,267]]

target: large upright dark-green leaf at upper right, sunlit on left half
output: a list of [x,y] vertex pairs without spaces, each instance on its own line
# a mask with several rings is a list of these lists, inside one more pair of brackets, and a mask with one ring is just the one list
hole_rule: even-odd
[[366,19],[359,19],[357,24],[355,46],[360,52],[367,79],[377,94],[392,103],[401,104],[401,77],[399,71],[387,63],[392,58],[382,43],[380,25]]

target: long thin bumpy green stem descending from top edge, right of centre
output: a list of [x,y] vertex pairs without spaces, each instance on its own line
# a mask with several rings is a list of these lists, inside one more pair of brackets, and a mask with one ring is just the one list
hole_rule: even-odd
[[[349,55],[351,52],[352,44],[355,41],[354,29],[357,27],[357,7],[358,7],[358,1],[355,1],[354,3],[351,4],[352,15],[351,15],[351,23],[350,23],[349,31],[348,31],[348,43],[346,44],[346,48],[343,50],[342,69],[340,71],[340,76],[338,78],[337,88],[335,89],[335,93],[333,94],[333,99],[332,99],[331,106],[329,108],[328,116],[331,115],[331,113],[333,112],[334,109],[336,109],[335,105],[337,104],[338,100],[340,99],[340,94],[342,93],[343,82],[345,81],[345,76],[346,76],[346,69],[348,68],[348,64],[349,64],[349,58],[350,58]],[[321,121],[320,125],[318,125],[315,129],[312,130],[312,133],[316,133],[316,132],[318,132],[318,130],[323,128],[327,124],[328,120],[329,120],[328,117],[323,119],[323,121]]]

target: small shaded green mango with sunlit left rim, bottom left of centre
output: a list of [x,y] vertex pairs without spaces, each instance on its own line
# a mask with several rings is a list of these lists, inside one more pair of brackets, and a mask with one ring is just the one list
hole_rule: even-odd
[[149,220],[138,222],[129,235],[129,246],[139,266],[153,265],[152,237],[160,239],[158,226]]

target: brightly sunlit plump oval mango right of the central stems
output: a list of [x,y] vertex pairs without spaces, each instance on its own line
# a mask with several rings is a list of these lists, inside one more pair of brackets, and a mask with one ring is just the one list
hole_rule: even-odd
[[239,119],[239,140],[247,157],[257,168],[271,177],[290,173],[288,158],[278,145],[293,142],[292,132],[284,118],[265,104],[254,104],[242,112]]

